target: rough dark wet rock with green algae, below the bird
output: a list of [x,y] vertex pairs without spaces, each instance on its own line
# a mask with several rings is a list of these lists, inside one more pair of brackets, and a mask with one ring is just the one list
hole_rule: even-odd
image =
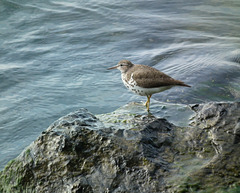
[[240,103],[191,108],[189,127],[134,115],[118,129],[85,109],[66,115],[0,172],[0,192],[239,190]]

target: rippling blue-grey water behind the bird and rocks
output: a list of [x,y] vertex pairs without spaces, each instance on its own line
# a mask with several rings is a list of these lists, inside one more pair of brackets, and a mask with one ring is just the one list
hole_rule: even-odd
[[240,1],[0,1],[0,168],[54,120],[130,101],[121,59],[192,86],[169,103],[240,100]]

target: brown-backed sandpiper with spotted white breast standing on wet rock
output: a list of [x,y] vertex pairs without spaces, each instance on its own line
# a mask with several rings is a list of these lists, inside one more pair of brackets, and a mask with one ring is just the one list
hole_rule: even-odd
[[173,86],[190,87],[184,82],[175,80],[155,68],[142,64],[133,64],[128,60],[121,60],[116,66],[108,68],[108,70],[111,69],[121,71],[123,84],[129,90],[138,95],[147,96],[145,105],[148,111],[150,98],[153,94],[170,89]]

